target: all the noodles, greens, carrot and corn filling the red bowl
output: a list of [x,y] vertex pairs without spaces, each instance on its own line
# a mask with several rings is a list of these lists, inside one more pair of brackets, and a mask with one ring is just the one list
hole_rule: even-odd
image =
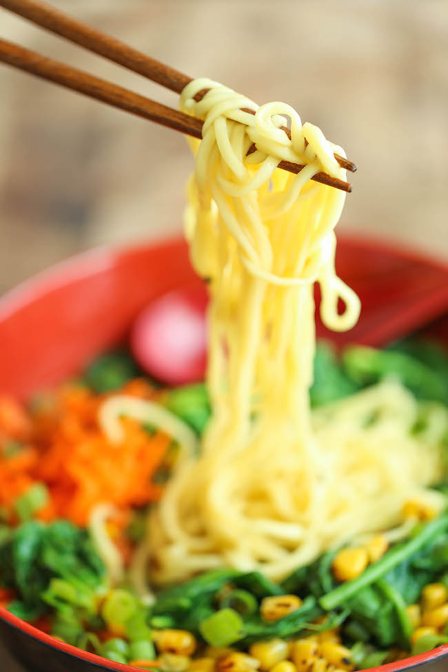
[[313,180],[345,179],[343,149],[208,79],[181,110],[204,121],[185,233],[206,380],[160,387],[123,350],[0,397],[2,603],[162,672],[351,671],[448,642],[447,354],[316,345],[315,283],[330,329],[360,312],[334,269],[345,194]]

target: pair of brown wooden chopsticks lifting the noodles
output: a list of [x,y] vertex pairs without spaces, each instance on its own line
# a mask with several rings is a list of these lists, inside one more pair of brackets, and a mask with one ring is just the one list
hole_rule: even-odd
[[[181,93],[185,85],[192,81],[192,78],[187,77],[186,74],[170,68],[165,63],[156,61],[156,59],[152,59],[100,30],[72,19],[67,14],[39,0],[0,0],[0,7],[10,10],[24,19],[28,19],[32,23],[36,23],[41,28],[46,28],[61,37],[65,37],[65,39],[95,54],[114,61],[114,63],[119,63],[119,65],[123,65],[125,68],[133,70],[176,93]],[[59,61],[54,61],[3,39],[0,39],[0,62],[12,65],[14,68],[19,68],[19,70],[25,70],[37,75],[37,77],[53,81],[66,88],[90,96],[90,98],[103,101],[103,103],[113,105],[115,108],[142,116],[144,119],[150,119],[150,121],[155,121],[195,138],[202,137],[201,119],[195,119],[193,116],[183,114],[178,110],[167,107],[167,105],[162,105],[121,86],[99,77],[94,77],[88,72],[77,70],[77,68],[72,68],[70,65],[59,63]],[[204,90],[197,94],[196,99],[200,100],[205,92]],[[253,110],[246,111],[254,114]],[[289,134],[289,130],[286,127],[283,126],[282,128]],[[251,150],[253,151],[254,148],[251,147]],[[340,166],[351,172],[356,171],[356,165],[352,161],[348,161],[338,154],[334,154],[334,156]],[[289,172],[298,173],[304,166],[290,163],[289,161],[282,161],[280,167]],[[345,192],[352,191],[351,184],[336,179],[324,172],[317,173],[313,179],[316,182],[336,187],[336,189]]]

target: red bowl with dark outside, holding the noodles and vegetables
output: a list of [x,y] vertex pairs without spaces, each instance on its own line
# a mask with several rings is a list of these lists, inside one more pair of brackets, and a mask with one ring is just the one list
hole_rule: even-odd
[[[387,274],[401,278],[398,294],[417,278],[424,278],[428,292],[431,278],[440,280],[440,273],[448,274],[448,269],[380,243],[341,238],[338,272],[374,309],[394,298],[389,289],[385,294]],[[185,243],[176,239],[120,250],[94,250],[19,285],[0,300],[0,392],[26,398],[77,373],[96,354],[125,340],[134,318],[150,301],[192,282],[200,281],[190,267]],[[429,301],[427,319],[436,312]],[[359,329],[371,315],[367,309]],[[378,315],[376,326],[380,327]],[[405,313],[405,323],[407,329],[415,326],[412,310]],[[0,637],[33,670],[135,670],[64,644],[2,607]],[[442,672],[448,669],[447,656],[448,645],[440,646],[378,667],[376,672],[422,666],[425,672]]]

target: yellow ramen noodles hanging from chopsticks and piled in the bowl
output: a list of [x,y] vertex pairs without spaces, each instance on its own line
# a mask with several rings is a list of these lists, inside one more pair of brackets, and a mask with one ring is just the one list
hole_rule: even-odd
[[[210,287],[213,414],[152,517],[153,576],[170,582],[226,565],[279,579],[356,534],[396,525],[411,497],[440,508],[442,497],[425,489],[440,473],[440,447],[431,431],[409,434],[417,405],[393,380],[310,411],[314,283],[327,327],[349,329],[360,312],[334,269],[345,194],[311,180],[321,170],[345,179],[334,159],[341,147],[289,105],[258,108],[207,79],[187,85],[181,110],[204,120],[203,140],[190,141],[185,225]],[[279,128],[286,118],[290,140]],[[283,159],[307,165],[292,175],[277,168]],[[433,424],[446,422],[434,413]]]

